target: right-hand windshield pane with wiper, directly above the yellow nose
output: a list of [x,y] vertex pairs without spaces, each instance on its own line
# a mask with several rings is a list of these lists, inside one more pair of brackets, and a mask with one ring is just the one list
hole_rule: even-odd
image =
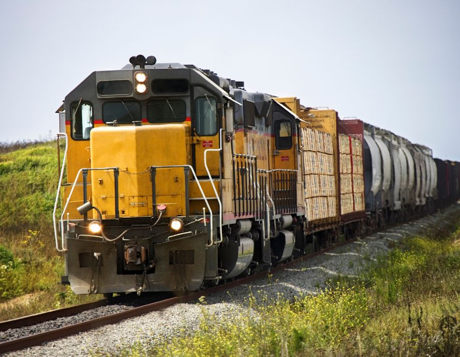
[[186,103],[181,99],[160,99],[147,103],[147,120],[151,123],[184,121]]

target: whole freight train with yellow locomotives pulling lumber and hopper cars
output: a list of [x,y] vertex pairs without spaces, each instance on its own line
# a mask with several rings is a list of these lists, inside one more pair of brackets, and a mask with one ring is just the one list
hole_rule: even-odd
[[460,164],[424,145],[153,56],[89,74],[56,113],[54,232],[76,294],[197,291],[460,194]]

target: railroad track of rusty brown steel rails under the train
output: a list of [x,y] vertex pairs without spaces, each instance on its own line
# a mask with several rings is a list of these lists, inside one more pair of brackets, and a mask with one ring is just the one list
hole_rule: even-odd
[[[48,331],[43,331],[38,334],[33,334],[29,335],[26,337],[21,337],[18,339],[13,339],[9,341],[5,341],[0,343],[0,353],[5,353],[5,352],[10,352],[10,351],[15,351],[18,349],[22,348],[27,348],[27,347],[32,347],[32,346],[37,346],[40,345],[44,342],[60,339],[66,336],[78,334],[80,332],[96,328],[96,327],[101,327],[104,325],[109,325],[112,323],[117,323],[122,320],[131,318],[131,317],[136,317],[140,316],[152,311],[158,311],[165,309],[167,307],[170,307],[174,304],[177,303],[186,303],[186,302],[191,302],[194,300],[198,300],[201,296],[208,296],[210,294],[231,289],[233,287],[236,287],[238,285],[243,285],[250,283],[252,281],[255,281],[260,278],[266,277],[268,274],[273,274],[278,271],[284,270],[286,268],[289,268],[297,263],[300,263],[302,261],[305,261],[307,259],[310,259],[314,256],[317,256],[319,254],[323,254],[331,249],[334,249],[338,246],[348,244],[355,241],[355,239],[350,239],[344,242],[339,242],[334,245],[331,245],[330,247],[327,247],[325,249],[321,249],[320,251],[308,254],[307,256],[303,256],[297,259],[294,259],[291,262],[284,263],[282,265],[273,267],[270,270],[264,270],[259,273],[256,273],[254,275],[249,275],[243,278],[239,278],[233,282],[229,282],[226,284],[221,284],[217,285],[215,287],[211,287],[202,291],[197,291],[197,292],[192,292],[188,293],[185,295],[180,295],[180,296],[175,296],[175,297],[170,297],[170,298],[163,298],[159,299],[158,301],[154,301],[151,303],[146,303],[143,304],[139,307],[134,307],[132,309],[128,309],[126,311],[118,312],[115,314],[107,315],[107,316],[102,316],[94,319],[90,319],[87,321],[79,322],[76,324],[71,324],[63,327],[59,327],[56,329],[51,329]],[[146,293],[144,293],[146,294]],[[35,315],[30,315],[26,317],[21,317],[17,318],[14,320],[8,320],[4,322],[0,322],[0,331],[6,331],[10,328],[18,328],[18,327],[25,327],[29,325],[34,325],[38,324],[41,322],[46,322],[46,321],[51,321],[59,317],[65,317],[65,316],[71,316],[71,315],[76,315],[78,313],[90,310],[90,309],[95,309],[99,307],[106,306],[108,304],[114,303],[114,302],[123,302],[123,301],[128,301],[131,297],[131,294],[127,294],[125,296],[117,296],[111,299],[110,301],[107,299],[101,299],[98,301],[94,302],[89,302],[85,304],[80,304],[76,305],[74,307],[70,308],[64,308],[64,309],[59,309],[59,310],[53,310],[49,312],[44,312],[40,314],[35,314]],[[157,297],[158,298],[158,297]]]

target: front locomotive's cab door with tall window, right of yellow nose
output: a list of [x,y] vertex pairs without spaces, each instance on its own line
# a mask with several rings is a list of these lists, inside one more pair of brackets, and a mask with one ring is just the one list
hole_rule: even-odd
[[[208,177],[204,167],[204,151],[219,148],[218,96],[202,87],[193,88],[192,144],[193,166],[198,177]],[[208,168],[212,176],[219,175],[218,152],[209,152]]]

